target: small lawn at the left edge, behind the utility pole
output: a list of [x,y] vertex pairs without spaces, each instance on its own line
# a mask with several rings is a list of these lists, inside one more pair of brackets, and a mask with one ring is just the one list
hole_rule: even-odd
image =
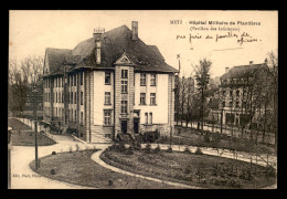
[[[33,132],[28,125],[19,122],[18,119],[9,118],[8,126],[11,126],[13,128],[13,146],[35,146],[35,132]],[[40,133],[36,134],[36,138],[39,146],[49,146],[56,144],[53,139]]]

